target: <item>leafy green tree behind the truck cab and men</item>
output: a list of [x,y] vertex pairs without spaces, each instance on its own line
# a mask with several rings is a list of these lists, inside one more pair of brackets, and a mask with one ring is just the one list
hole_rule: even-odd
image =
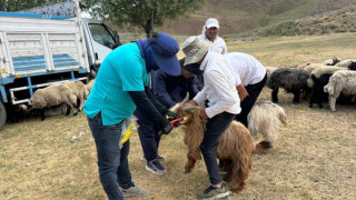
[[161,27],[166,19],[177,20],[194,12],[205,0],[85,0],[89,12],[109,19],[118,27],[144,28],[146,34],[154,27]]

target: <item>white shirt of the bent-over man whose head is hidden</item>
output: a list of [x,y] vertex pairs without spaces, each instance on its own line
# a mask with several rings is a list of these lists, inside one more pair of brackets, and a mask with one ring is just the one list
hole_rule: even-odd
[[234,69],[236,86],[256,84],[266,76],[266,68],[250,54],[230,52],[224,54],[224,59],[228,60]]

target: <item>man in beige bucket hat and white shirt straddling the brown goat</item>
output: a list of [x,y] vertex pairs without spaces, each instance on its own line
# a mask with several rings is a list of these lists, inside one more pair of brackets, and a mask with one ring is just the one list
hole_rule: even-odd
[[222,186],[215,150],[220,134],[241,111],[234,70],[222,54],[209,51],[210,46],[211,42],[200,41],[198,37],[190,37],[182,44],[185,66],[197,63],[205,81],[202,90],[190,103],[204,106],[209,100],[208,108],[200,110],[200,118],[208,120],[200,150],[211,186],[198,199],[225,198],[229,194]]

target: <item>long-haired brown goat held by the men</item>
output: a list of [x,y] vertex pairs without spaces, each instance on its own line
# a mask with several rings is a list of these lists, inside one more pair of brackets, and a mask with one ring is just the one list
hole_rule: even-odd
[[[200,143],[204,139],[207,120],[199,117],[200,107],[197,106],[178,104],[171,110],[179,117],[185,117],[181,122],[186,127],[184,142],[188,147],[188,162],[185,172],[189,173],[196,160],[201,160]],[[251,153],[264,153],[268,148],[269,142],[260,142],[255,146],[248,129],[237,121],[233,121],[219,137],[216,154],[227,170],[227,174],[222,179],[231,183],[231,192],[244,189],[253,164]]]

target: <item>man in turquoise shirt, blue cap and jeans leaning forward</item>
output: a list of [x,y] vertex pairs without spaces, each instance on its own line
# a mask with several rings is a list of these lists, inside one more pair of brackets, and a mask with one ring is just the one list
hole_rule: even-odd
[[119,148],[121,122],[138,107],[159,124],[162,133],[171,131],[164,117],[171,113],[150,97],[147,87],[151,70],[160,68],[168,74],[180,74],[178,51],[172,37],[152,33],[146,40],[115,49],[100,66],[85,113],[96,141],[100,182],[110,200],[149,193],[131,180],[127,159],[130,142]]

